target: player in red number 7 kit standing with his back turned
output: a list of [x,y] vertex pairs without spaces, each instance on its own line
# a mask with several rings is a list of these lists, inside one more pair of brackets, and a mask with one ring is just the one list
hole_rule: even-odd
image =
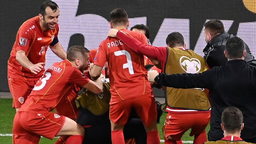
[[[127,30],[129,20],[123,9],[114,9],[110,13],[110,26],[148,44],[145,35]],[[128,48],[121,40],[108,37],[100,44],[99,52],[95,56],[95,64],[91,70],[93,79],[100,76],[106,61],[108,62],[111,85],[109,116],[112,143],[125,143],[123,127],[131,109],[134,108],[147,131],[147,143],[160,144],[156,127],[155,98],[147,80],[144,56]],[[91,65],[93,64],[91,63]]]

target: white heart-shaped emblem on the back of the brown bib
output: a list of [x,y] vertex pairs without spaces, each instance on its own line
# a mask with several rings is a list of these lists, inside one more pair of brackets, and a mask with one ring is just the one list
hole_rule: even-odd
[[180,58],[180,66],[186,73],[198,73],[201,69],[201,63],[198,59],[190,59],[186,56]]

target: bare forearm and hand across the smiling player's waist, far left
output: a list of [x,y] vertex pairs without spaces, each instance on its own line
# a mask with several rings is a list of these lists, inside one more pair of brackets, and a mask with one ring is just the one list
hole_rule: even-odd
[[37,74],[43,68],[45,63],[40,62],[37,64],[33,64],[30,62],[26,56],[26,53],[23,50],[19,50],[16,52],[16,60],[25,68],[29,69],[32,73]]

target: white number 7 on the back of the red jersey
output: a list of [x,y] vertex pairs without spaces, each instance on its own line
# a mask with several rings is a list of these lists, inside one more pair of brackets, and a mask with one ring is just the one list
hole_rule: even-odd
[[128,51],[120,50],[114,52],[115,56],[125,55],[127,59],[127,63],[123,64],[123,69],[128,68],[130,74],[134,74],[133,67],[132,67],[132,58]]

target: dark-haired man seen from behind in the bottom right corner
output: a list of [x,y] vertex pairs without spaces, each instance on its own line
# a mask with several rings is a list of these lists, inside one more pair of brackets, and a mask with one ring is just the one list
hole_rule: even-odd
[[238,108],[228,107],[222,112],[221,128],[224,131],[224,138],[216,142],[205,142],[204,144],[252,144],[240,138],[244,123],[243,114]]

